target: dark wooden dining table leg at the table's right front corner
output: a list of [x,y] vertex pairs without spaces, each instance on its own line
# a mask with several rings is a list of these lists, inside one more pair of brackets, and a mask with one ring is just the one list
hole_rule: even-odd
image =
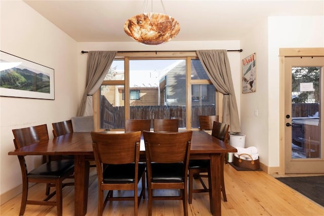
[[213,215],[221,215],[221,154],[211,154],[210,205]]

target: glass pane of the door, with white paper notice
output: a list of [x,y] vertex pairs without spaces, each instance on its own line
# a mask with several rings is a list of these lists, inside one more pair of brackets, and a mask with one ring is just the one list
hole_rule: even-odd
[[320,67],[292,67],[292,158],[321,152]]

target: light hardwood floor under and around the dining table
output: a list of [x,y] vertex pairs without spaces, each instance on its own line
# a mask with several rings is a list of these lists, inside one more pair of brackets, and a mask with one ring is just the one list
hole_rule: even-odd
[[[225,164],[225,186],[227,202],[222,201],[222,215],[324,215],[324,207],[309,200],[285,184],[275,180],[263,171],[236,171]],[[97,175],[91,168],[87,215],[97,215]],[[197,184],[199,185],[199,184]],[[29,195],[43,197],[45,185],[37,184],[30,188]],[[161,191],[160,193],[164,193]],[[170,192],[169,192],[170,193]],[[14,197],[0,206],[4,216],[18,215],[21,195]],[[142,200],[138,215],[146,215],[147,199]],[[192,204],[188,205],[189,216],[211,215],[207,193],[194,194]],[[132,215],[133,202],[113,201],[105,207],[103,215]],[[25,215],[56,215],[56,208],[51,206],[27,205]],[[73,187],[63,189],[63,215],[74,215]],[[183,215],[181,201],[154,201],[153,215]]]

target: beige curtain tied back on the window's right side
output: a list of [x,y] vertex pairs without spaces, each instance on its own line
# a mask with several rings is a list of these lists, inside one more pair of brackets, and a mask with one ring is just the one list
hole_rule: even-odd
[[229,124],[230,132],[241,132],[227,51],[198,50],[197,56],[217,91],[224,95],[223,122]]

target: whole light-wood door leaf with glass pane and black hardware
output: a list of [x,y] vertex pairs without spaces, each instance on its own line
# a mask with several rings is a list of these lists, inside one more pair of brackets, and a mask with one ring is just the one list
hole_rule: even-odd
[[322,173],[323,57],[285,58],[285,172]]

